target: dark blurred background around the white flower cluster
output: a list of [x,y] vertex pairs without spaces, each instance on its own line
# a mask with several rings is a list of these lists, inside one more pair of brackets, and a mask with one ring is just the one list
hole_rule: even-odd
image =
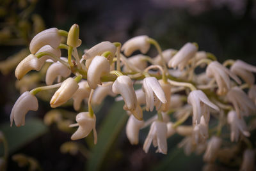
[[[13,27],[24,29],[22,26],[26,24],[20,24],[19,17],[12,19],[15,13],[22,13],[19,6],[24,2],[0,1],[2,32],[8,22],[11,22]],[[79,24],[80,37],[83,41],[82,46],[78,48],[80,54],[83,53],[84,48],[90,48],[100,41],[124,43],[133,36],[147,34],[159,41],[163,49],[179,49],[184,43],[195,41],[199,45],[199,50],[211,52],[218,57],[220,62],[226,59],[242,59],[247,63],[256,64],[256,1],[253,0],[31,0],[25,5],[29,6],[31,2],[35,5],[29,11],[29,15],[32,16],[35,13],[40,15],[44,20],[45,28],[57,27],[68,31],[72,24]],[[31,20],[28,17],[28,21]],[[15,34],[15,36],[22,37],[20,34]],[[27,47],[32,37],[29,33],[23,35],[26,41],[20,43],[16,41],[17,45],[1,41],[1,61]],[[3,35],[1,37],[0,34],[0,38],[3,40]],[[150,56],[156,56],[156,51],[151,50]],[[9,124],[12,106],[19,97],[19,91],[15,89],[15,80],[14,71],[0,76],[1,125]],[[109,104],[112,102],[113,98],[108,98],[100,109],[99,115],[107,113]],[[32,112],[32,115],[43,118],[50,108],[48,103],[40,103],[42,104],[40,104],[39,112]],[[98,127],[103,120],[99,119]],[[109,147],[111,152],[108,151],[108,154],[104,156],[101,169],[165,170],[175,163],[173,160],[176,158],[175,155],[181,155],[170,152],[168,156],[163,156],[154,154],[153,150],[146,155],[142,150],[142,145],[147,130],[142,134],[140,145],[133,146],[125,137],[123,128],[124,126],[120,128],[115,143],[111,142],[111,148]],[[68,141],[71,134],[58,131],[56,126],[47,129],[42,136],[16,148],[10,155],[24,153],[32,156],[38,160],[43,170],[83,170],[88,160],[84,159],[81,154],[71,156],[60,152],[60,145]],[[168,140],[170,151],[179,140],[180,137]],[[81,141],[81,143],[84,142]],[[90,149],[90,145],[87,144],[86,147]],[[195,157],[194,160],[196,162],[191,164],[189,170],[201,169],[202,159]],[[169,164],[168,161],[170,161]],[[181,165],[181,161],[185,162],[183,164],[189,163],[184,155],[176,161],[179,161]],[[176,168],[186,169],[184,166],[180,168],[177,163]],[[8,170],[17,169],[21,168],[10,158]],[[28,167],[22,169],[28,170]]]

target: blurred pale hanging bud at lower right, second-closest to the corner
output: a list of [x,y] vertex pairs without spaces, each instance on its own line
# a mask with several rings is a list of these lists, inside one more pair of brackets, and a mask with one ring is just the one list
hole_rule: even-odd
[[204,154],[204,161],[213,163],[218,155],[218,151],[221,147],[222,140],[220,137],[212,136],[207,144],[207,148]]

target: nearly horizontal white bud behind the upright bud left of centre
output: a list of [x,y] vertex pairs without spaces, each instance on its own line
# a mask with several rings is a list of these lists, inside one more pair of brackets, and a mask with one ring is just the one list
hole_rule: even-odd
[[93,57],[100,56],[107,51],[111,52],[112,56],[115,56],[116,47],[109,41],[102,41],[101,43],[84,52],[83,59],[92,59]]

